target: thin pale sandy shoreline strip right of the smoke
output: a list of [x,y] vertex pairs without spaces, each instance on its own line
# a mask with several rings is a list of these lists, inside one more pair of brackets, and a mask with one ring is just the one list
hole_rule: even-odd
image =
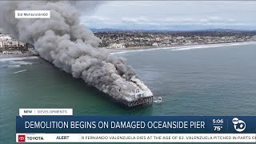
[[144,47],[129,47],[125,49],[106,49],[109,50],[110,53],[114,52],[122,52],[122,51],[132,51],[132,50],[157,50],[157,49],[162,49],[162,48],[170,48],[170,49],[178,49],[182,47],[187,47],[187,46],[218,46],[218,45],[223,45],[223,46],[229,46],[229,45],[234,45],[234,44],[250,44],[250,43],[256,43],[255,41],[251,42],[222,42],[222,43],[209,43],[209,44],[194,44],[194,45],[178,45],[178,46],[144,46]]

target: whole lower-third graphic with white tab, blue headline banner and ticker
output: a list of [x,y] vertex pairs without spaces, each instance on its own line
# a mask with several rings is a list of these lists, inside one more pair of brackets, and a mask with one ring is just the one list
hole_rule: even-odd
[[16,117],[16,141],[256,142],[256,116],[72,114],[72,109],[20,110],[20,116]]

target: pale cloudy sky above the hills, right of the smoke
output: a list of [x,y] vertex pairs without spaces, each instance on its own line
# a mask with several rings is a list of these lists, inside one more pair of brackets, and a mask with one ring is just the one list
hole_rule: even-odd
[[82,14],[89,28],[256,30],[256,2],[242,1],[109,1]]

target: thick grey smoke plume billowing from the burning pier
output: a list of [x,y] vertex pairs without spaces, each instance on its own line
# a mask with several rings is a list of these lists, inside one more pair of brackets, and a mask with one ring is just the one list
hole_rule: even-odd
[[[83,3],[83,4],[81,4]],[[98,3],[74,1],[1,2],[0,26],[14,38],[30,42],[38,54],[75,78],[82,78],[114,98],[125,98],[126,90],[151,91],[124,58],[98,48],[100,39],[79,23],[76,6],[90,11]],[[16,19],[15,10],[50,10],[49,19]],[[132,100],[125,98],[126,100]]]

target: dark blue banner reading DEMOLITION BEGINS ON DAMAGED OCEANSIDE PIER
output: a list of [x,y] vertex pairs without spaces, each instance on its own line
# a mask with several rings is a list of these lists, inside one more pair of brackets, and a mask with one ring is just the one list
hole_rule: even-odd
[[17,116],[16,133],[255,134],[256,116]]

